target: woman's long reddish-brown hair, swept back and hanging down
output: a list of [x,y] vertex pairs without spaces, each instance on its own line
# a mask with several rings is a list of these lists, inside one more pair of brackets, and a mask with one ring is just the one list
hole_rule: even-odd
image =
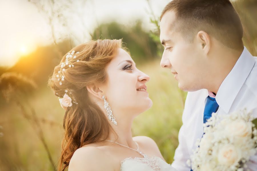
[[[49,79],[48,84],[56,96],[63,98],[67,94],[72,99],[72,105],[65,110],[63,119],[64,138],[59,171],[69,166],[75,150],[109,136],[111,126],[107,117],[90,101],[86,86],[107,81],[105,68],[118,54],[119,48],[122,48],[121,39],[92,40],[80,44],[63,56]],[[72,62],[74,66],[63,67],[65,68],[63,70],[61,67],[67,56],[74,51],[76,55],[76,60]],[[60,83],[62,78],[57,77],[60,71],[64,76],[62,83]]]

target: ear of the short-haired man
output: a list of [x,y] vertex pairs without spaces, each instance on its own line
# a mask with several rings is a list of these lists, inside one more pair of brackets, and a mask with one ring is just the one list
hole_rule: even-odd
[[197,33],[197,41],[201,46],[201,49],[204,50],[205,54],[208,54],[210,50],[210,36],[204,31],[199,31]]

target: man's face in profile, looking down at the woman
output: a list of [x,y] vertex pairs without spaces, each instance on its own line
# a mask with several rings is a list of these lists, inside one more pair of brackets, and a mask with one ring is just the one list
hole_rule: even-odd
[[178,86],[184,91],[202,89],[203,54],[196,41],[186,40],[176,28],[176,16],[172,11],[166,12],[160,21],[160,41],[164,52],[160,65],[170,69]]

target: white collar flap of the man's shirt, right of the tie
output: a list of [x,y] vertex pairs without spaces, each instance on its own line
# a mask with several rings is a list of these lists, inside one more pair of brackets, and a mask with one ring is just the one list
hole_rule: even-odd
[[235,66],[224,79],[216,94],[216,101],[226,113],[230,111],[238,92],[254,67],[255,60],[244,46],[244,50]]

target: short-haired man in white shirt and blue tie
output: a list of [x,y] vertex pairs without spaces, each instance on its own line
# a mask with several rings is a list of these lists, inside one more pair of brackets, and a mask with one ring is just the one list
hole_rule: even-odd
[[[175,75],[180,89],[189,91],[172,163],[178,171],[190,171],[186,161],[212,112],[226,115],[257,107],[257,58],[244,47],[242,36],[229,0],[173,0],[162,11],[160,65]],[[257,156],[247,165],[257,170]]]

